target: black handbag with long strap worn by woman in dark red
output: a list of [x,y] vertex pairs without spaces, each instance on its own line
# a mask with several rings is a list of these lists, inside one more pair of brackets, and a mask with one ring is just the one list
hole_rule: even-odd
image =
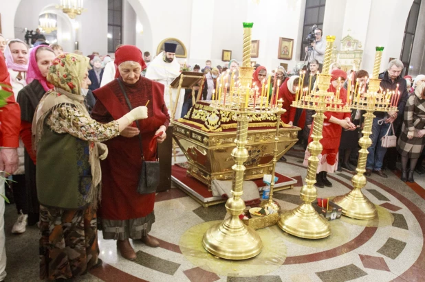
[[[118,83],[120,84],[120,88],[122,94],[124,95],[125,101],[129,106],[130,110],[133,110],[131,106],[129,97],[127,97],[127,93],[122,86],[122,82],[117,78]],[[140,130],[139,121],[135,121],[136,126]],[[140,169],[139,183],[138,183],[138,193],[150,194],[155,193],[158,184],[160,183],[160,162],[157,161],[144,161],[143,156],[143,147],[142,147],[142,137],[138,134],[139,137],[139,145],[140,145],[140,153],[142,154],[142,169]],[[157,149],[158,150],[158,149]]]

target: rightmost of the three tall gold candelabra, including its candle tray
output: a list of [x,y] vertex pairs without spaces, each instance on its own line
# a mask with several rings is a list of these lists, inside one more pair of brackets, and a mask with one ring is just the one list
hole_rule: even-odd
[[[364,126],[362,130],[362,138],[359,140],[361,147],[358,155],[358,165],[356,168],[357,174],[351,178],[353,184],[353,190],[349,193],[337,196],[334,198],[334,202],[342,207],[342,214],[349,218],[355,218],[358,220],[371,220],[375,218],[378,213],[375,205],[362,193],[362,187],[366,186],[367,179],[364,176],[366,172],[366,161],[367,154],[369,154],[367,148],[372,144],[372,140],[369,137],[372,134],[372,122],[375,115],[375,111],[391,112],[397,111],[398,100],[400,99],[400,93],[398,89],[396,91],[387,91],[380,89],[380,79],[378,79],[382,51],[384,47],[376,47],[375,62],[373,65],[373,75],[369,82],[369,89],[367,92],[362,93],[358,90],[357,86],[354,86],[354,91],[351,95],[349,93],[349,106],[357,110],[365,110]],[[398,88],[398,87],[397,87]],[[362,87],[360,86],[360,89]]]

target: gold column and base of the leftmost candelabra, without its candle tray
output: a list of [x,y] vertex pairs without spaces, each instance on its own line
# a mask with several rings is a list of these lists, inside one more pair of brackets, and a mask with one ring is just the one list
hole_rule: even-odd
[[[221,224],[216,224],[206,231],[202,239],[202,245],[212,255],[224,259],[249,259],[255,257],[261,252],[263,242],[258,233],[253,228],[243,224],[239,215],[245,209],[245,202],[241,199],[243,194],[243,172],[245,166],[243,163],[248,159],[248,150],[245,145],[248,137],[248,93],[250,92],[249,83],[252,78],[252,68],[250,67],[250,46],[251,46],[251,28],[252,23],[243,23],[243,67],[240,70],[241,91],[247,93],[246,98],[237,99],[235,113],[237,113],[237,139],[236,148],[232,151],[232,157],[235,165],[232,169],[235,176],[232,182],[232,198],[226,202],[226,210],[230,216]],[[231,93],[232,95],[232,93]],[[221,102],[221,101],[218,101]],[[213,106],[221,107],[218,104]],[[232,105],[230,104],[230,107]],[[255,104],[253,105],[255,110]]]

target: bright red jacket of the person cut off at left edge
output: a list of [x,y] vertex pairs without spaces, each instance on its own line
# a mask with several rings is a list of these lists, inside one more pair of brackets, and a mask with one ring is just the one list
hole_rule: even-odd
[[[10,75],[6,60],[3,53],[0,51],[0,84],[10,84]],[[8,103],[0,110],[0,146],[18,148],[19,147],[19,129],[21,126],[21,108],[14,99],[12,86],[10,89],[3,89],[9,91],[12,95],[6,99]]]

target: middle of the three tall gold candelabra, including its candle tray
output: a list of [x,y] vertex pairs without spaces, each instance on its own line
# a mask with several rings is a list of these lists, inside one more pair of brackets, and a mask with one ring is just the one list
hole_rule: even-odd
[[[300,192],[303,204],[292,211],[283,213],[278,221],[278,225],[283,231],[307,239],[320,239],[331,234],[329,222],[323,216],[320,216],[312,206],[312,202],[317,198],[317,189],[314,187],[314,183],[316,183],[316,171],[319,162],[318,154],[323,150],[320,139],[322,139],[324,113],[326,111],[340,113],[351,111],[347,104],[342,103],[339,91],[337,93],[327,92],[331,81],[331,75],[328,73],[335,36],[327,36],[326,40],[323,73],[318,75],[319,90],[310,92],[309,89],[298,88],[296,99],[292,102],[293,107],[316,111],[312,133],[313,141],[307,146],[311,155],[308,158],[306,184],[303,185]],[[303,77],[301,76],[300,79],[303,80]],[[303,82],[300,83],[300,85],[302,84]]]

